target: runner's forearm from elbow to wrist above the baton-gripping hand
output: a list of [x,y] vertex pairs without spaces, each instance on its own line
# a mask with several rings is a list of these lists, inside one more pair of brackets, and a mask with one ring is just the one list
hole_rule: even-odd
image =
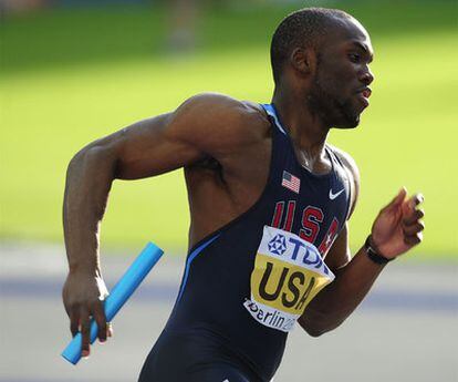
[[115,174],[115,158],[89,147],[71,161],[65,184],[63,226],[70,270],[100,273],[98,233]]

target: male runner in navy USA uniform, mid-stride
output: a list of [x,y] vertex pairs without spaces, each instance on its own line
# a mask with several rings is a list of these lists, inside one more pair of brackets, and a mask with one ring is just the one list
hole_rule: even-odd
[[140,382],[270,381],[298,321],[316,337],[339,327],[389,260],[421,241],[421,195],[403,188],[352,258],[347,219],[358,194],[353,159],[326,144],[360,123],[373,49],[339,10],[304,9],[274,32],[271,104],[220,94],[123,128],[79,152],[67,172],[63,289],[73,334],[106,340],[98,226],[114,179],[184,167],[189,254],[170,318]]

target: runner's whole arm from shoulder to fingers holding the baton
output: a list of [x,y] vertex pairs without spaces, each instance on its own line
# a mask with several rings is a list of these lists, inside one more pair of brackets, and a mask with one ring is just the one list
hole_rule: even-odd
[[[188,166],[211,156],[223,157],[242,138],[244,104],[205,94],[189,99],[175,112],[159,115],[81,149],[71,161],[63,206],[69,276],[63,301],[73,335],[81,330],[83,353],[90,352],[90,318],[106,340],[102,300],[107,296],[98,255],[98,227],[115,178],[137,179]],[[243,116],[240,118],[240,116]],[[211,134],[217,131],[217,134]]]

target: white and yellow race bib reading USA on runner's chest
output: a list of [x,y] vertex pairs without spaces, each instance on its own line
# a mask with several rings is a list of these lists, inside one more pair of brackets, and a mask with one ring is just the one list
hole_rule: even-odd
[[314,245],[264,226],[250,279],[251,299],[243,306],[258,322],[288,332],[308,303],[333,280]]

